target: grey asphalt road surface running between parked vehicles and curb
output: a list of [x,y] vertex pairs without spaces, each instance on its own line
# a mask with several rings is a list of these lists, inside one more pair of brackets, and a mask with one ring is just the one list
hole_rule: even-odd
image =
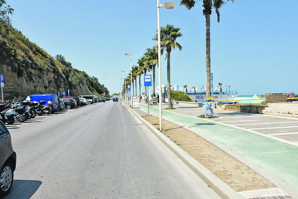
[[17,165],[5,198],[220,198],[120,101],[7,127]]

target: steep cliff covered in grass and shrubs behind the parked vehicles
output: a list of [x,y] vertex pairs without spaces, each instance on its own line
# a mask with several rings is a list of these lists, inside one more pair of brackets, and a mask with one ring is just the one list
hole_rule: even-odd
[[[69,64],[64,66],[12,26],[0,25],[0,74],[4,76],[4,100],[32,94],[58,95],[58,91],[62,96],[63,91],[68,95],[68,90],[70,96],[96,93],[98,89],[86,84],[86,80],[90,84],[92,78]],[[105,93],[108,94],[107,89]]]

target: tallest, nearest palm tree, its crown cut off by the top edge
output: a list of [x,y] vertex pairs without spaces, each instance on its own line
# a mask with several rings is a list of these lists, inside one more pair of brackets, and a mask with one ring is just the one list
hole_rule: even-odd
[[[230,1],[230,0],[227,0]],[[235,0],[231,0],[233,3]],[[206,18],[206,69],[207,69],[207,82],[206,82],[206,95],[211,95],[211,85],[210,85],[210,15],[212,12],[212,7],[215,8],[217,14],[217,22],[219,23],[219,9],[226,4],[223,0],[203,0],[203,15]],[[184,5],[187,10],[190,10],[195,6],[195,0],[180,0],[180,5]]]

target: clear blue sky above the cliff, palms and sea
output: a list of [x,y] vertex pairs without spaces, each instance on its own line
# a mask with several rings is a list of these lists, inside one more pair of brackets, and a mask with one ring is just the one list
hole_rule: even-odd
[[[206,78],[206,25],[202,0],[191,10],[160,9],[160,24],[179,27],[182,51],[171,52],[171,85],[201,86]],[[62,54],[74,68],[95,76],[110,94],[146,48],[156,44],[155,0],[6,0],[12,25],[53,57]],[[161,1],[160,3],[163,3]],[[220,23],[211,15],[211,72],[214,84],[238,86],[238,95],[298,93],[298,1],[231,1],[221,8]],[[162,56],[162,84],[167,62]],[[156,68],[156,71],[157,68]],[[151,73],[148,73],[151,74]],[[158,73],[156,73],[158,76]],[[138,82],[138,81],[137,81]],[[142,76],[143,82],[143,76]],[[142,83],[143,84],[143,83]],[[156,87],[158,78],[156,78]],[[142,88],[144,92],[144,87]],[[152,87],[150,88],[152,93]],[[139,92],[138,92],[139,93]]]

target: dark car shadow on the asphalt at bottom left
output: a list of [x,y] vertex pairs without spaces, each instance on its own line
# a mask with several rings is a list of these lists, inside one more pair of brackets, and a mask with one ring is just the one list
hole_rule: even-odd
[[10,192],[4,198],[29,199],[41,186],[38,180],[13,180]]

